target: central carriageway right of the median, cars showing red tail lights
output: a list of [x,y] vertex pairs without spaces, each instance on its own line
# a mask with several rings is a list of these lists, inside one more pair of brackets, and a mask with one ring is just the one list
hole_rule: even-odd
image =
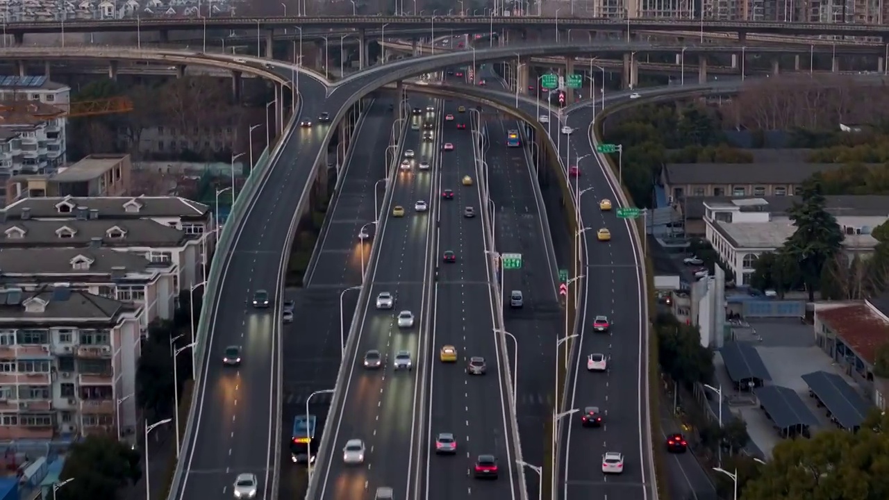
[[[467,111],[460,112],[463,106]],[[439,274],[435,286],[436,313],[432,327],[432,360],[429,376],[430,399],[427,484],[423,498],[520,497],[514,443],[509,428],[509,387],[501,367],[501,345],[494,332],[493,288],[490,268],[493,259],[485,250],[485,220],[479,165],[473,148],[468,102],[445,101],[442,141],[453,151],[442,155],[441,190],[453,190],[452,199],[442,199],[439,208],[439,239],[436,248]],[[466,125],[466,129],[458,128]],[[468,177],[472,185],[465,185]],[[478,214],[466,217],[466,207]],[[453,252],[455,262],[443,262],[445,252]],[[441,362],[445,346],[456,351],[456,361]],[[469,375],[472,357],[485,359],[485,375]],[[436,436],[451,433],[457,442],[454,456],[435,453]],[[474,467],[479,455],[498,460],[497,480],[477,480]]]

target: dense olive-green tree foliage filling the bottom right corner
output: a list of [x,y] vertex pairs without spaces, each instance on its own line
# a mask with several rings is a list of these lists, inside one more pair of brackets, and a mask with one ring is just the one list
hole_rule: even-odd
[[[857,432],[821,431],[782,440],[741,488],[742,500],[889,498],[889,416],[874,412]],[[747,479],[747,478],[745,478]]]

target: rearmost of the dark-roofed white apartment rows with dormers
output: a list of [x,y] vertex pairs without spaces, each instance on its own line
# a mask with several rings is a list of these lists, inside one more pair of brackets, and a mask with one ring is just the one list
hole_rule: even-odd
[[[0,214],[0,221],[26,218],[40,221],[147,220],[179,230],[186,238],[196,239],[196,244],[200,246],[195,274],[181,275],[180,272],[179,286],[182,290],[203,281],[204,270],[200,266],[209,266],[215,248],[214,237],[217,236],[210,207],[179,197],[22,198],[6,206],[4,214],[6,218],[3,219],[3,214]],[[182,270],[179,265],[177,269]],[[173,289],[176,290],[175,287]]]

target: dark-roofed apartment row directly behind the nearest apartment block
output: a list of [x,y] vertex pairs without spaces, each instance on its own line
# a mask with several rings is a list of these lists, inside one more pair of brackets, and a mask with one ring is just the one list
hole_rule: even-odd
[[156,318],[172,319],[178,290],[176,267],[151,262],[142,254],[95,248],[4,248],[0,251],[0,284],[26,292],[65,283],[70,289],[99,295],[141,310],[147,331]]

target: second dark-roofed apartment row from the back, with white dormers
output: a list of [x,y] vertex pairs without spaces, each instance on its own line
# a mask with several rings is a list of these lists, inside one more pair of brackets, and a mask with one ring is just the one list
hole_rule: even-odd
[[[3,220],[0,213],[0,248],[79,248],[89,251],[111,249],[135,254],[148,262],[172,266],[172,290],[188,289],[203,281],[204,245],[200,235],[187,234],[150,219],[89,219],[80,211],[72,219],[38,220],[29,210],[20,219]],[[86,266],[88,255],[78,266]],[[74,264],[72,264],[74,265]],[[90,264],[92,265],[92,264]]]

